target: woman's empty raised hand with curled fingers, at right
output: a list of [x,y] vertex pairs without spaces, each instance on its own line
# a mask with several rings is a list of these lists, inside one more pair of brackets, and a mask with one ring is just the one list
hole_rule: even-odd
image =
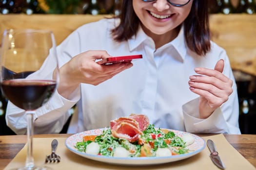
[[219,106],[226,102],[233,92],[233,81],[222,74],[224,61],[219,60],[214,69],[195,68],[196,73],[205,75],[190,76],[190,90],[199,98],[199,118],[208,118]]

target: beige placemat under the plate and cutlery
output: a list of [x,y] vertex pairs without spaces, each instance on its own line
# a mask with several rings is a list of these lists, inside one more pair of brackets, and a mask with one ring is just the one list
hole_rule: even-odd
[[[34,138],[34,159],[36,165],[48,166],[54,170],[219,170],[211,161],[210,151],[205,149],[184,160],[166,163],[162,165],[151,166],[117,166],[107,163],[93,161],[79,156],[69,151],[65,146],[66,138],[56,138],[59,141],[57,152],[60,157],[60,163],[44,164],[45,156],[51,153],[51,141],[53,138]],[[256,170],[240,153],[234,149],[225,136],[222,134],[214,136],[205,136],[203,139],[212,139],[217,146],[218,153],[224,162],[225,170]],[[15,156],[4,170],[9,170],[24,166],[26,158],[26,146]]]

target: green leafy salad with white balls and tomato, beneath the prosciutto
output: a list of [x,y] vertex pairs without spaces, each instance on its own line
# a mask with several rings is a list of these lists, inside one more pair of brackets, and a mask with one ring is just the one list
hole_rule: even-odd
[[186,146],[191,142],[186,141],[172,131],[149,124],[133,142],[113,136],[112,129],[106,128],[101,135],[84,136],[75,148],[79,152],[115,157],[171,156],[190,152]]

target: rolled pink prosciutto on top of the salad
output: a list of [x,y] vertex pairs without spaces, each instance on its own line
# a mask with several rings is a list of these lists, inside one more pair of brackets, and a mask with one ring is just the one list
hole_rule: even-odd
[[131,114],[129,117],[121,117],[110,121],[112,135],[127,139],[129,142],[138,140],[142,131],[149,125],[149,119],[145,115]]

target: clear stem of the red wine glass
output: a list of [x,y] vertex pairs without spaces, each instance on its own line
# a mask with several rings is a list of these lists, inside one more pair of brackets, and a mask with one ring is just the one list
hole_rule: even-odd
[[33,116],[35,111],[26,111],[27,115],[27,158],[26,158],[26,168],[30,169],[35,166],[33,158],[33,135],[34,135],[34,126],[33,126]]

